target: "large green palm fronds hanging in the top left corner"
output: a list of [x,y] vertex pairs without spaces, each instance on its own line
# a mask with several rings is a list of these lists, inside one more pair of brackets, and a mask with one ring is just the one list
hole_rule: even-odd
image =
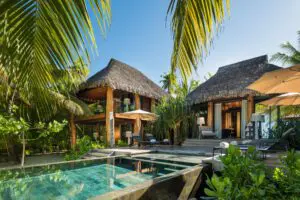
[[44,89],[58,92],[52,72],[74,66],[79,58],[81,65],[89,63],[89,54],[96,50],[90,8],[105,33],[110,0],[1,1],[0,66],[11,77],[11,97],[18,88],[26,88],[39,99],[40,113],[52,112],[53,95]]

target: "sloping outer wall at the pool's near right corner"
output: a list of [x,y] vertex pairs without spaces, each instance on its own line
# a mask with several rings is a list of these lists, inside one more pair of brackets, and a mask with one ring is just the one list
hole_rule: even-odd
[[200,185],[202,166],[197,165],[188,169],[155,178],[151,181],[127,187],[123,190],[110,192],[93,199],[188,199],[196,194]]

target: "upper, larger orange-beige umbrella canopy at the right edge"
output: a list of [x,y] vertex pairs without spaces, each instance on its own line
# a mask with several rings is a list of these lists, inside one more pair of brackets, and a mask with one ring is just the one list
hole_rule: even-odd
[[300,65],[265,73],[247,88],[264,94],[300,92]]

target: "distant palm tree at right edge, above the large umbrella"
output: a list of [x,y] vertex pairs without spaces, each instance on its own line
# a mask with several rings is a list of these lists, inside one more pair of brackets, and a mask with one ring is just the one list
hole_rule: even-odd
[[[300,31],[298,31],[298,42],[300,45]],[[296,65],[300,63],[300,51],[291,43],[286,42],[280,45],[281,49],[286,53],[278,52],[271,57],[271,61],[280,61],[283,65]]]

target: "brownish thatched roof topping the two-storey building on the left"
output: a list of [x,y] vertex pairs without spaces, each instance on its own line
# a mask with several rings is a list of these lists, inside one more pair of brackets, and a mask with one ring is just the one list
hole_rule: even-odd
[[160,99],[166,95],[161,87],[142,72],[116,59],[111,59],[107,67],[90,77],[81,89],[103,86],[155,99]]

